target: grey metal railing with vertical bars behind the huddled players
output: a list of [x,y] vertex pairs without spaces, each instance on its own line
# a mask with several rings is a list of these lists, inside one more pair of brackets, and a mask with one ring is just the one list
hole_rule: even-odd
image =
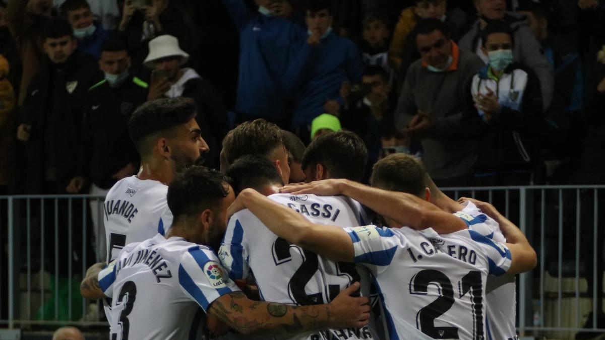
[[[592,328],[588,330],[605,333],[605,329],[597,328],[597,316],[603,306],[604,234],[600,222],[601,214],[605,213],[605,209],[600,212],[599,198],[605,195],[605,186],[477,187],[443,191],[453,198],[468,196],[490,201],[523,230],[536,249],[538,266],[518,276],[517,281],[520,336],[574,338],[576,332],[587,330],[582,328],[587,313],[592,315]],[[0,197],[0,234],[7,237],[0,235],[0,245],[8,245],[8,267],[2,269],[0,265],[0,277],[6,277],[5,272],[8,275],[8,289],[0,289],[0,306],[7,305],[8,310],[0,309],[0,324],[11,329],[66,323],[105,324],[99,319],[83,317],[90,302],[82,299],[77,308],[73,308],[73,295],[79,293],[71,289],[87,266],[96,260],[91,258],[93,238],[90,237],[89,211],[90,203],[98,204],[102,199],[94,195]],[[102,219],[100,209],[95,218]],[[62,237],[67,237],[67,242],[61,242]],[[104,237],[104,234],[96,235],[97,239]],[[59,243],[67,249],[57,247]],[[49,250],[54,251],[51,259],[45,257]],[[81,258],[74,259],[79,254]],[[62,260],[64,263],[60,263]],[[34,278],[35,275],[38,277]],[[49,276],[54,280],[52,285],[48,282]],[[34,279],[38,281],[37,288],[33,287]],[[67,282],[70,288],[62,293],[66,296],[60,296],[60,281]],[[3,282],[6,281],[0,281],[0,285]],[[54,289],[48,290],[47,286]],[[2,296],[6,291],[8,296]],[[54,296],[48,296],[49,293]],[[34,298],[38,300],[36,303]],[[51,298],[55,304],[50,308],[52,318],[48,319],[43,315],[44,304]],[[59,317],[60,299],[68,301],[67,320]],[[36,306],[41,306],[37,314],[34,313]]]

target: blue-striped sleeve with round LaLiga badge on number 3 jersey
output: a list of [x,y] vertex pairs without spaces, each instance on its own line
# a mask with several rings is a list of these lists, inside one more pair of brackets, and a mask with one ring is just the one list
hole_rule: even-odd
[[212,250],[200,246],[193,246],[181,255],[178,283],[183,293],[205,312],[215,299],[240,290]]

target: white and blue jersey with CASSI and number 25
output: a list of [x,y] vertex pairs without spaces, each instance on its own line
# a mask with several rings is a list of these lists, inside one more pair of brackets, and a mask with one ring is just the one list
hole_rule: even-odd
[[[319,224],[345,227],[367,221],[361,204],[347,197],[274,194],[269,198]],[[359,270],[351,263],[335,263],[277,237],[247,209],[229,220],[218,257],[233,280],[249,279],[253,272],[265,301],[296,305],[329,303],[341,289],[360,280],[362,295],[370,295],[367,270]],[[284,338],[375,339],[368,326]]]

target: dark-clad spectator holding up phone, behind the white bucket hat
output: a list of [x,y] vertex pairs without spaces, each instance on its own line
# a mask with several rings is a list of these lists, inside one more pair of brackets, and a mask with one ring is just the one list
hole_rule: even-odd
[[[181,48],[191,53],[194,42],[193,30],[188,25],[187,14],[180,11],[171,0],[124,1],[122,21],[117,37],[128,46],[132,59],[132,71],[136,76],[146,73],[143,60],[148,56],[148,42],[155,37],[170,34],[177,38]],[[152,5],[148,5],[151,2]]]

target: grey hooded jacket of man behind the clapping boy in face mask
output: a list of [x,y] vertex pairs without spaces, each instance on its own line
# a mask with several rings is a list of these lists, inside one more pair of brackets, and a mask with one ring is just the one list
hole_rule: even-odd
[[[506,12],[504,21],[511,25],[511,30],[514,34],[513,39],[515,47],[512,53],[514,54],[515,61],[531,68],[538,76],[538,79],[540,79],[542,103],[544,110],[546,110],[546,108],[551,105],[554,93],[555,77],[552,65],[544,56],[540,42],[538,42],[534,33],[532,33],[529,28],[525,16]],[[472,51],[476,53],[480,44],[481,30],[479,27],[479,19],[477,19],[470,30],[460,38],[458,46],[462,51]],[[480,55],[480,57],[483,57],[483,55]]]

